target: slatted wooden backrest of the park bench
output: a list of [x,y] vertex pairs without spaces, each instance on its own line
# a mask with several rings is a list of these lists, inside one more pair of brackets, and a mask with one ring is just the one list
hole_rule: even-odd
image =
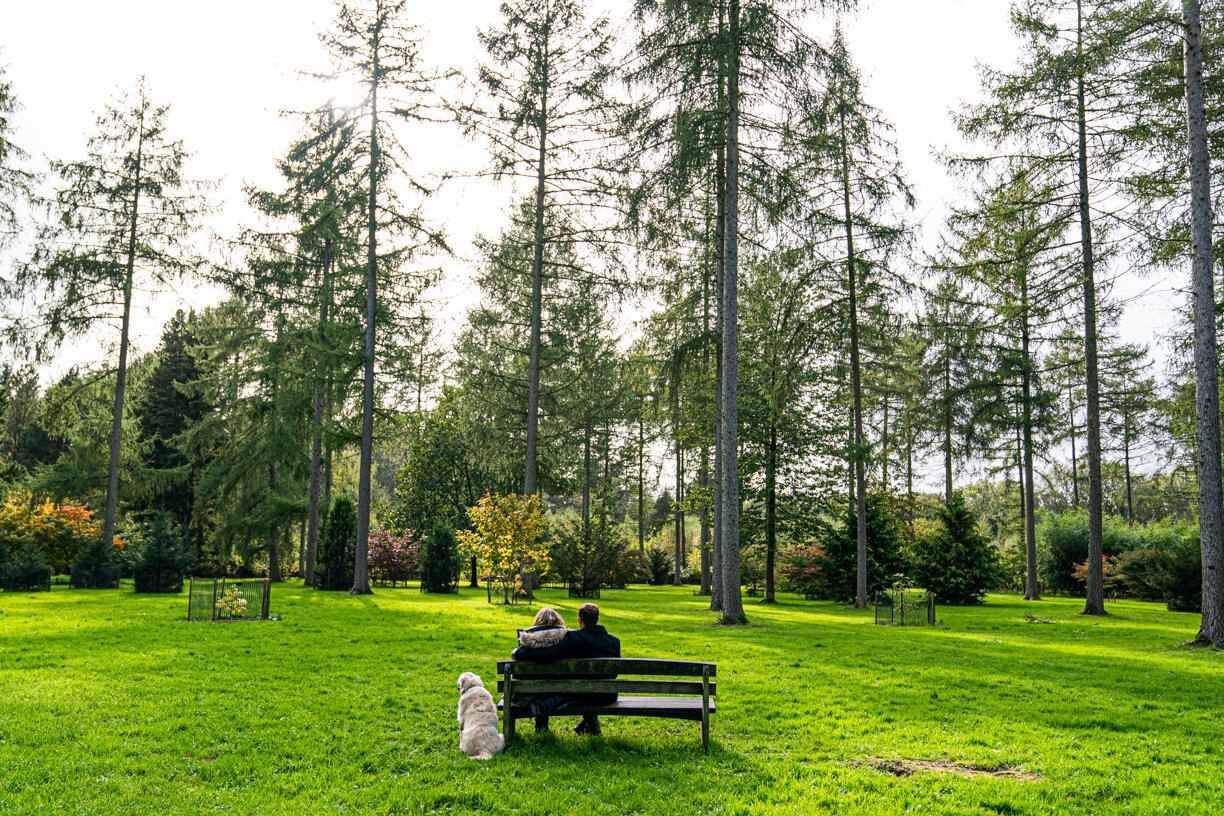
[[[554,663],[498,661],[497,690],[507,680],[515,694],[617,692],[649,695],[710,695],[716,692],[717,664],[700,661],[654,661],[639,657],[592,657]],[[625,679],[630,675],[633,679]],[[611,679],[611,678],[616,679]],[[698,678],[657,680],[652,677]]]

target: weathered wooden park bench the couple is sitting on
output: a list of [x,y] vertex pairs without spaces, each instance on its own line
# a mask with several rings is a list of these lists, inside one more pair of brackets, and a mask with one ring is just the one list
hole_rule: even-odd
[[[572,702],[561,716],[599,714],[600,717],[667,717],[693,719],[701,723],[701,746],[710,750],[710,714],[714,713],[714,663],[693,661],[650,661],[635,657],[588,658],[532,663],[530,661],[498,661],[497,690],[502,702],[502,734],[506,741],[514,738],[514,721],[530,717],[526,705],[514,702],[514,695],[619,695],[616,702],[592,706]],[[611,677],[616,679],[608,679]],[[629,675],[633,679],[625,679]],[[668,679],[654,679],[666,677]],[[650,679],[646,679],[650,678]],[[678,680],[671,678],[698,678]],[[646,695],[646,696],[629,696]]]

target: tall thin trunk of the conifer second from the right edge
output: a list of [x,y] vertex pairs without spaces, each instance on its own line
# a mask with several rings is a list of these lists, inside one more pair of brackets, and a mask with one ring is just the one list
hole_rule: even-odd
[[1097,378],[1097,284],[1093,279],[1092,219],[1088,209],[1088,126],[1083,89],[1083,2],[1076,0],[1076,113],[1080,131],[1080,228],[1083,254],[1083,357],[1088,391],[1088,592],[1083,613],[1105,614],[1105,588],[1102,557],[1104,531],[1100,484],[1100,395]]

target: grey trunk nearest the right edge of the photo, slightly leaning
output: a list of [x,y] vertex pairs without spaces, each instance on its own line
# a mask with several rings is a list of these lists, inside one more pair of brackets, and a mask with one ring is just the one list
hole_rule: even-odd
[[1211,157],[1207,150],[1207,113],[1203,102],[1200,5],[1198,0],[1182,0],[1181,4],[1195,292],[1195,464],[1198,475],[1198,537],[1203,559],[1203,619],[1195,641],[1224,647],[1224,492],[1220,483],[1215,281],[1212,279]]

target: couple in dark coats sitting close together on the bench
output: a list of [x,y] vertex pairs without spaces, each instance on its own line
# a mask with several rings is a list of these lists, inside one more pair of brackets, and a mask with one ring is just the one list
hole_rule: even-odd
[[[551,663],[584,657],[621,657],[621,641],[600,625],[600,608],[594,603],[578,607],[578,629],[565,629],[556,610],[545,607],[536,613],[531,629],[519,630],[519,647],[510,655],[517,661]],[[611,679],[611,678],[610,678]],[[515,705],[526,705],[535,717],[536,733],[548,730],[548,716],[570,703],[602,706],[616,702],[616,692],[584,695],[515,695]],[[600,718],[584,714],[575,734],[599,736]]]

